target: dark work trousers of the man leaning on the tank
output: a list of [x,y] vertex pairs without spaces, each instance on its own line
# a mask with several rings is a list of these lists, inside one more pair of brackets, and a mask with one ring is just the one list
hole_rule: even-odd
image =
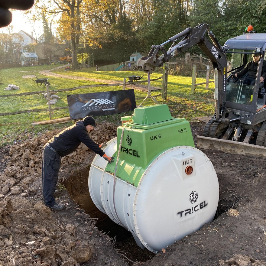
[[47,145],[43,148],[42,183],[45,205],[52,207],[55,203],[54,192],[61,166],[61,156],[52,151]]

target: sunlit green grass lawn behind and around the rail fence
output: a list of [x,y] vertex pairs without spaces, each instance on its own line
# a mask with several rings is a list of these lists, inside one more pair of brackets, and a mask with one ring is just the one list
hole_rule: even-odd
[[[16,112],[29,109],[48,109],[46,99],[39,94],[27,96],[9,96],[11,94],[20,94],[23,92],[38,92],[46,91],[45,86],[37,86],[37,84],[30,79],[49,78],[50,90],[67,89],[78,86],[103,84],[103,82],[95,82],[88,80],[75,80],[58,77],[48,77],[41,75],[41,70],[51,70],[53,73],[64,74],[68,76],[79,76],[90,79],[106,79],[115,80],[123,83],[124,78],[128,80],[128,76],[143,75],[141,80],[147,80],[147,74],[140,71],[95,71],[95,68],[83,68],[76,71],[66,71],[64,68],[54,69],[59,65],[44,65],[44,66],[29,66],[18,67],[11,69],[0,70],[0,114],[7,112]],[[151,79],[160,77],[161,73],[152,73]],[[197,79],[197,83],[204,82],[204,79]],[[14,84],[20,87],[19,90],[4,90],[8,84]],[[142,83],[147,85],[147,83]],[[161,87],[161,79],[152,81],[151,86]],[[112,87],[94,87],[83,88],[73,91],[58,92],[60,99],[52,108],[67,107],[67,95],[82,94],[91,92],[114,91],[121,90],[122,86]],[[161,91],[154,91],[152,95],[161,94]],[[147,92],[135,89],[135,97],[137,106],[141,104]],[[4,96],[4,97],[3,97]],[[196,86],[196,91],[191,94],[191,77],[171,76],[168,75],[167,100],[161,99],[161,96],[156,97],[160,104],[167,104],[173,117],[186,118],[188,121],[193,121],[197,116],[212,115],[214,112],[214,83],[209,84],[209,90],[205,89],[205,85]],[[147,99],[143,105],[154,104],[152,99]],[[112,122],[120,124],[120,118],[125,115],[131,115],[131,112],[95,117],[97,122]],[[52,111],[52,118],[62,118],[69,116],[68,109]],[[50,131],[57,128],[67,127],[72,122],[55,125],[37,125],[32,126],[32,122],[49,120],[49,112],[30,112],[16,115],[1,115],[0,116],[0,146],[6,144],[13,144],[19,142],[21,139],[33,138],[41,135],[44,131]]]

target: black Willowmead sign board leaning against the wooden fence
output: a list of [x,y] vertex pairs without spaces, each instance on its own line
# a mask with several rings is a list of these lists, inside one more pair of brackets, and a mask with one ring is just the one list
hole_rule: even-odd
[[67,95],[70,118],[113,115],[134,110],[134,89]]

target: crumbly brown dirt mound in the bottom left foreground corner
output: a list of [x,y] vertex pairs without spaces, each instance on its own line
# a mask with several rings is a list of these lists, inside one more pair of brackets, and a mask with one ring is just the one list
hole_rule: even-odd
[[42,261],[44,265],[58,265],[57,261],[70,265],[66,264],[70,256],[78,263],[92,256],[91,245],[75,240],[75,225],[58,226],[50,209],[41,202],[33,204],[23,197],[7,197],[2,200],[0,215],[4,265],[41,265]]

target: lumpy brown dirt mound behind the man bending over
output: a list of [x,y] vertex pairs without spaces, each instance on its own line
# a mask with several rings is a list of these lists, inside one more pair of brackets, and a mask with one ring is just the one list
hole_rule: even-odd
[[[97,131],[93,130],[90,133],[90,137],[96,143],[102,143],[114,138],[116,130],[117,128],[112,124],[99,125]],[[8,163],[4,173],[0,174],[0,194],[18,195],[22,193],[22,196],[25,196],[23,193],[36,193],[36,187],[30,187],[30,184],[41,175],[42,148],[60,131],[47,132],[34,140],[28,140],[10,148],[9,155],[2,160],[2,162],[8,160]],[[81,144],[76,151],[62,158],[61,171],[65,171],[70,164],[81,164],[84,161],[84,152],[95,156],[89,148]],[[73,173],[73,170],[71,172]]]

